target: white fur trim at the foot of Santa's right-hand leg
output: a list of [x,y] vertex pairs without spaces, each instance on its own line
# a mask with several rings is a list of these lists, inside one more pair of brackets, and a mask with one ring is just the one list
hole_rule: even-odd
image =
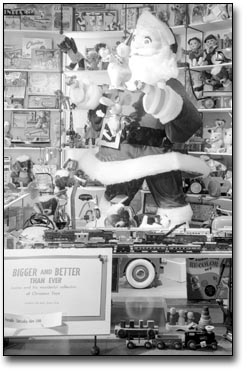
[[190,205],[174,208],[158,208],[157,214],[160,216],[166,216],[170,220],[170,226],[167,228],[173,228],[175,225],[188,223],[191,221],[193,211]]

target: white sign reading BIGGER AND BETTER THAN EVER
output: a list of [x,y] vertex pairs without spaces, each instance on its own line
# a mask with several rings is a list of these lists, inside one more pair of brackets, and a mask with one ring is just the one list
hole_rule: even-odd
[[5,336],[110,333],[111,248],[5,250],[4,259]]

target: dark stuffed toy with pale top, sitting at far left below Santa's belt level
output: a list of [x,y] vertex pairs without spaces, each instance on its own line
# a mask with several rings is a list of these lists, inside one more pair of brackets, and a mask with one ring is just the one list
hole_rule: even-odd
[[34,179],[33,162],[27,155],[20,155],[12,166],[11,179],[16,187],[27,187]]

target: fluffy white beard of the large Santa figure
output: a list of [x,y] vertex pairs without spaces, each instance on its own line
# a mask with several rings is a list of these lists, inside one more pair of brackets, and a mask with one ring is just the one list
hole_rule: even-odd
[[178,76],[176,55],[168,46],[163,47],[159,53],[152,56],[131,55],[129,68],[132,77],[128,85],[136,80],[154,85],[159,81],[167,81]]

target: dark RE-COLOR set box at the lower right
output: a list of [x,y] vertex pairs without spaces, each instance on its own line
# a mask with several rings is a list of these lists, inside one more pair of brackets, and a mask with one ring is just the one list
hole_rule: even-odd
[[229,293],[229,259],[187,259],[188,299],[227,299]]

